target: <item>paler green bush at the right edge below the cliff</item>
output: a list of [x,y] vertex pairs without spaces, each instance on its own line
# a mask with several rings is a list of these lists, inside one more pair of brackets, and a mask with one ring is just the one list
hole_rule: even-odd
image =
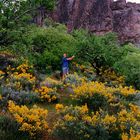
[[123,57],[114,68],[126,77],[126,83],[140,89],[140,49],[132,44],[122,48]]

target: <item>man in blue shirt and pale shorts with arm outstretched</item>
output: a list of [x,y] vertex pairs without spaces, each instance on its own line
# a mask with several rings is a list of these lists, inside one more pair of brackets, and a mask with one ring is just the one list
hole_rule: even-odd
[[74,56],[67,58],[67,54],[63,54],[62,58],[62,80],[66,77],[67,74],[69,74],[69,61],[71,61],[74,58]]

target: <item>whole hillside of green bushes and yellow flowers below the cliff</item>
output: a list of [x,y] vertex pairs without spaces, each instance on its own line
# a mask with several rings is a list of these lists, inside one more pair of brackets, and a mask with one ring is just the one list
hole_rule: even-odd
[[[140,49],[68,33],[42,17],[54,5],[0,2],[0,139],[140,140]],[[64,53],[75,58],[62,80]]]

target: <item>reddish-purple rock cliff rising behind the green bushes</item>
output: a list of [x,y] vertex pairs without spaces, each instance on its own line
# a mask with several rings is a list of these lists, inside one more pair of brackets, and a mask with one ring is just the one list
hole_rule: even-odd
[[85,28],[98,35],[115,31],[121,42],[140,44],[140,4],[126,0],[58,0],[52,17],[68,31]]

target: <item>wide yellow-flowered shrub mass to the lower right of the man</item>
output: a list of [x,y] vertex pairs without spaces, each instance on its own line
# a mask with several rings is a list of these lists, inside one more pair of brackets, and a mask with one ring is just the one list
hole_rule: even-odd
[[94,110],[99,108],[121,109],[124,107],[123,101],[132,102],[138,93],[132,87],[108,87],[101,82],[84,82],[80,86],[74,87],[73,91],[74,100],[81,104],[87,103],[88,107]]

